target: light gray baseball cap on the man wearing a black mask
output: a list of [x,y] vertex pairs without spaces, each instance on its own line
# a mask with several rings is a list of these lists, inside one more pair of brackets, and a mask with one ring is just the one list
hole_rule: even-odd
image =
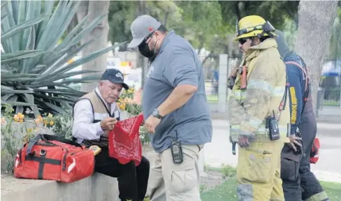
[[133,40],[128,45],[128,48],[138,47],[148,34],[152,31],[159,29],[161,23],[150,15],[138,16],[130,26],[131,35]]

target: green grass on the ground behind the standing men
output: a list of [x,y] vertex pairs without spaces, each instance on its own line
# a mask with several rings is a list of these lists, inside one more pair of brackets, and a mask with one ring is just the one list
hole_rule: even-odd
[[[233,168],[228,165],[225,168],[213,168],[206,167],[206,170],[218,171],[218,172],[234,172]],[[341,183],[320,181],[324,187],[330,200],[341,200]],[[201,194],[202,201],[231,201],[238,200],[237,197],[237,180],[235,177],[231,177],[223,184],[216,186],[215,188],[206,191]]]

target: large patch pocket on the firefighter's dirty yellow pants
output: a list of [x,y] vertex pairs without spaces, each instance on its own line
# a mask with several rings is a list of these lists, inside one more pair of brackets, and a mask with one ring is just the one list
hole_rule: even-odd
[[249,149],[239,149],[237,175],[240,181],[268,183],[271,179],[271,157],[269,152],[259,153]]

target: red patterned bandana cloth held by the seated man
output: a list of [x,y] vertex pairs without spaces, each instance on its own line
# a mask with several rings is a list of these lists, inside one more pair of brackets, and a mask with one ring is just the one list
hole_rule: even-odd
[[116,158],[121,164],[135,161],[136,166],[140,165],[142,145],[139,129],[142,122],[143,114],[138,114],[115,124],[108,133],[110,157]]

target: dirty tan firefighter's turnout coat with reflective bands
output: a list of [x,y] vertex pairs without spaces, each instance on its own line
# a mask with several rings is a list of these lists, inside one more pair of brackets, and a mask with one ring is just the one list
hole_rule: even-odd
[[[270,141],[266,117],[275,112],[280,140],[289,142],[286,137],[290,128],[289,105],[279,112],[286,91],[286,67],[280,59],[277,43],[269,38],[252,49],[242,61],[247,68],[247,89],[241,89],[238,73],[231,91],[228,110],[231,140],[238,142],[240,135],[252,135],[251,142]],[[289,103],[289,96],[286,96],[286,103]]]

